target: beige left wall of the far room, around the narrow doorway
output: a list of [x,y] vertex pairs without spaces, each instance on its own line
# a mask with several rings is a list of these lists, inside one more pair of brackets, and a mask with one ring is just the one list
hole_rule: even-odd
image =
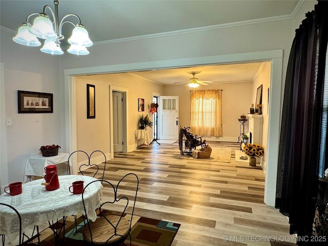
[[[106,155],[110,149],[110,91],[109,85],[128,89],[128,149],[135,149],[134,132],[138,129],[138,116],[150,114],[152,92],[161,92],[162,86],[151,83],[131,73],[103,74],[78,76],[76,81],[76,121],[77,121],[77,150],[85,150],[91,153],[101,150]],[[95,85],[96,92],[96,118],[87,118],[87,84]],[[138,112],[138,98],[145,99],[145,111]],[[151,115],[150,115],[151,116]],[[151,128],[148,128],[149,138],[152,136]],[[80,157],[78,162],[85,161]]]

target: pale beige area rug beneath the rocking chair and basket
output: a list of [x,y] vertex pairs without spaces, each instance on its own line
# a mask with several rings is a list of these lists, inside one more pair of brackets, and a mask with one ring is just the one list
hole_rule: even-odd
[[212,153],[210,158],[206,159],[194,159],[191,154],[185,153],[185,155],[177,155],[177,159],[190,159],[190,160],[202,160],[202,161],[216,161],[216,162],[230,162],[231,148],[212,147]]

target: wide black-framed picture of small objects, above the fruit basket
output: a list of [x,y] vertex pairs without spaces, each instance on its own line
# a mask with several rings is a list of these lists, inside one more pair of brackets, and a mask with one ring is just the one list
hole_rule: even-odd
[[53,94],[32,91],[18,92],[18,113],[53,113]]

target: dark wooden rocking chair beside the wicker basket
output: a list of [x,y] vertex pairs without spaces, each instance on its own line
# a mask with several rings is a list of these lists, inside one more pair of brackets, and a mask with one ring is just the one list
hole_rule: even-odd
[[[195,150],[198,146],[200,146],[201,148],[206,147],[206,140],[202,139],[203,136],[197,136],[189,132],[189,129],[190,127],[182,128],[180,126],[179,150],[181,155],[184,155],[183,153],[191,154],[192,150]],[[183,147],[183,144],[185,144],[185,147]]]

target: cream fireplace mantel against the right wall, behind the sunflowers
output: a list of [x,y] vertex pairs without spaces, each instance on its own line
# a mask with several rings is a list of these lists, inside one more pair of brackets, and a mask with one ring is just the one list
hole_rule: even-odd
[[249,117],[249,142],[250,144],[262,145],[263,115],[248,114]]

